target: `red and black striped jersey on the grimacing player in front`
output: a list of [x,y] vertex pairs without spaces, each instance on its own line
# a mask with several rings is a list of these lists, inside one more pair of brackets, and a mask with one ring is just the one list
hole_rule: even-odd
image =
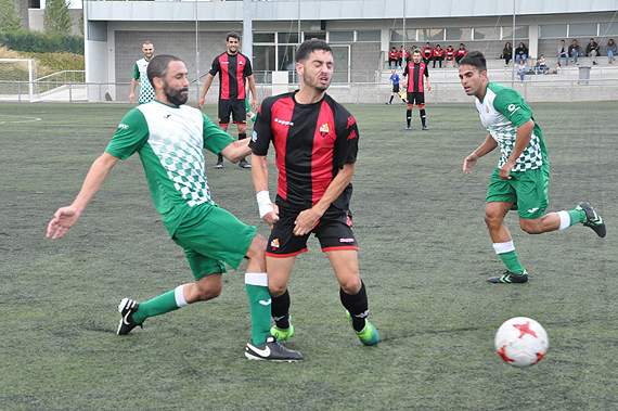
[[[265,99],[249,146],[254,154],[267,155],[272,141],[278,195],[302,210],[320,201],[344,165],[356,163],[359,132],[353,116],[329,94],[299,104],[295,93]],[[350,183],[331,208],[347,210],[351,194]]]

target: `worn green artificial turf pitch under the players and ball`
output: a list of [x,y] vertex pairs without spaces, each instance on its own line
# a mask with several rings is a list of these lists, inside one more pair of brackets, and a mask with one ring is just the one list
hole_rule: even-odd
[[[463,91],[462,91],[463,93]],[[120,162],[78,223],[44,237],[129,105],[0,105],[0,409],[2,410],[610,410],[618,408],[618,103],[531,104],[550,153],[549,210],[588,201],[607,223],[530,235],[507,224],[527,284],[504,268],[484,222],[498,152],[473,100],[417,111],[349,105],[360,129],[351,209],[382,342],[360,344],[316,239],[291,280],[299,363],[248,361],[244,267],[222,295],[115,334],[123,297],[150,299],[192,279],[154,209],[138,156]],[[216,107],[207,114],[216,119]],[[235,129],[231,127],[235,134]],[[207,155],[215,201],[257,215],[250,172]],[[274,168],[271,172],[274,192]],[[546,357],[530,369],[493,350],[500,324],[539,321]]]

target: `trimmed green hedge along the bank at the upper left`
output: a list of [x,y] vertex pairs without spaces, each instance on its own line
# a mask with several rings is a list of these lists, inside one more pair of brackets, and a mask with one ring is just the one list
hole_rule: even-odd
[[0,44],[30,53],[73,53],[83,55],[83,37],[18,30],[0,33]]

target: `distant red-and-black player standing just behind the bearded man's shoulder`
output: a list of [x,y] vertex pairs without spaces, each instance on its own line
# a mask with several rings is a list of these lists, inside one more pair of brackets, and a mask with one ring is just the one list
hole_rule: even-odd
[[[219,127],[223,131],[228,131],[230,124],[230,114],[232,120],[239,127],[239,140],[247,138],[247,117],[245,99],[247,98],[247,89],[245,84],[248,82],[253,95],[252,105],[258,107],[256,84],[252,70],[252,62],[246,55],[239,53],[240,35],[235,31],[228,33],[226,43],[228,50],[219,54],[213,61],[210,72],[204,82],[202,97],[197,102],[197,106],[202,108],[206,100],[206,93],[213,85],[213,80],[217,73],[219,74]],[[247,80],[245,82],[245,80]],[[241,168],[252,168],[252,166],[243,158],[239,162]],[[223,168],[223,157],[219,155],[216,168]]]

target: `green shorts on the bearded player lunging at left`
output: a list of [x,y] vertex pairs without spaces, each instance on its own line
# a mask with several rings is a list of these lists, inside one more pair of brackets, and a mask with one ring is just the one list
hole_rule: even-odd
[[223,262],[236,269],[256,233],[256,227],[241,222],[230,211],[202,204],[189,211],[172,240],[184,248],[197,281],[215,272],[227,272]]

